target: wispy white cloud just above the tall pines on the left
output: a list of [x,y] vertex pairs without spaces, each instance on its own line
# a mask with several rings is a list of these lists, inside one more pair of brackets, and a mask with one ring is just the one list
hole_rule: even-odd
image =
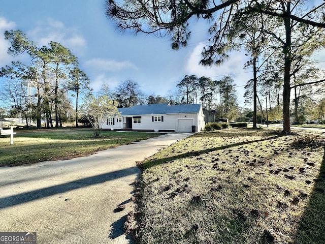
[[61,21],[48,18],[44,22],[38,22],[38,26],[28,32],[28,37],[40,46],[49,42],[58,42],[69,48],[75,55],[82,55],[87,46],[86,40],[74,27],[67,27]]

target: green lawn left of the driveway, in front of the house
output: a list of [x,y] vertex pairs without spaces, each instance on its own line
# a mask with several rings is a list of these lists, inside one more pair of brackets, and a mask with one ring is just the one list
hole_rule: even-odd
[[89,155],[95,151],[158,136],[158,133],[102,131],[94,137],[91,129],[17,130],[14,144],[0,137],[0,166],[13,166]]

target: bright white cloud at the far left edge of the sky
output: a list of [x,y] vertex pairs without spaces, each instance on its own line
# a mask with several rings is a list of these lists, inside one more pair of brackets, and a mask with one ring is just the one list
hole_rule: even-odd
[[5,40],[5,37],[3,33],[5,31],[9,31],[10,29],[15,27],[15,23],[13,21],[8,21],[4,17],[0,16],[0,33],[1,33],[1,38],[0,38],[0,67],[9,65],[11,60],[13,59],[12,56],[10,56],[7,51],[8,48],[10,47],[10,42]]

